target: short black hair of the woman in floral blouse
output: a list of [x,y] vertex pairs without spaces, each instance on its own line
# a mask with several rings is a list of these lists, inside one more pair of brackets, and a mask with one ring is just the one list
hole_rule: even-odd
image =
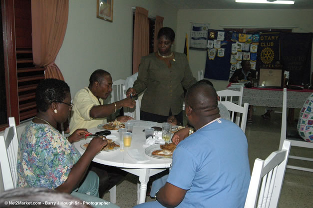
[[66,98],[69,86],[59,79],[44,79],[36,89],[36,105],[41,112],[46,112],[53,102],[60,102]]

